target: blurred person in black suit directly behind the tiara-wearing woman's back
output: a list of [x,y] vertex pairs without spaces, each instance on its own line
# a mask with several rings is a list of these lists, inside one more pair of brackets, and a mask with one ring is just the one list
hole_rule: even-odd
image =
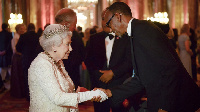
[[29,87],[28,87],[28,68],[31,62],[38,55],[39,35],[35,32],[35,25],[30,23],[28,25],[27,32],[20,35],[19,41],[16,45],[16,50],[22,53],[22,68],[24,73],[24,86],[25,97],[27,101],[30,101]]

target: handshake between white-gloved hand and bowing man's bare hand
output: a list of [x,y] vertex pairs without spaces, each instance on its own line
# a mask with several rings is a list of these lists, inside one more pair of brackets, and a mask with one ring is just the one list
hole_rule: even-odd
[[102,88],[94,88],[92,91],[78,92],[79,93],[79,103],[92,100],[96,102],[103,102],[111,97],[111,91],[109,89],[105,90]]

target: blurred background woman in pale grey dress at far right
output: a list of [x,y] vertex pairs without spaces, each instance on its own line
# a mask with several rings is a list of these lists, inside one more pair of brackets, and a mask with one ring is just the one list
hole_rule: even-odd
[[178,47],[180,53],[180,59],[186,68],[189,75],[192,77],[192,64],[191,64],[191,56],[193,55],[192,50],[190,49],[190,26],[188,24],[184,24],[181,28],[181,34],[178,37]]

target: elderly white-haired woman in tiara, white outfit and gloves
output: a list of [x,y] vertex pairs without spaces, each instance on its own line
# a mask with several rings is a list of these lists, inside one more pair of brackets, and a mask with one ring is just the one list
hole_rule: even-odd
[[62,59],[67,59],[72,51],[71,36],[65,26],[52,24],[40,37],[44,52],[31,63],[28,74],[30,112],[76,112],[78,103],[106,96],[100,90],[80,92],[80,87],[75,92],[62,63]]

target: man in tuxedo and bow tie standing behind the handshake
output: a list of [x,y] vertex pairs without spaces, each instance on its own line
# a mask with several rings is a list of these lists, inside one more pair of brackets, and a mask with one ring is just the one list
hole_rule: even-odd
[[[132,74],[130,41],[127,37],[114,37],[111,29],[105,25],[102,13],[103,32],[90,37],[85,64],[90,74],[92,88],[109,89],[122,84]],[[123,112],[120,103],[112,105],[109,100],[94,102],[95,112]]]

